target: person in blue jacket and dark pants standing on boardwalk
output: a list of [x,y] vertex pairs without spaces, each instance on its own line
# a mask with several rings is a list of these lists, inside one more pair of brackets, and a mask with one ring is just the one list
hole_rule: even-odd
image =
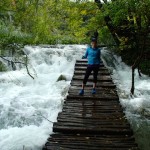
[[82,89],[79,91],[79,95],[84,95],[84,87],[92,71],[93,71],[92,94],[96,93],[95,88],[96,88],[97,75],[98,75],[99,66],[100,66],[100,56],[101,56],[101,51],[100,51],[100,48],[97,47],[97,38],[93,37],[91,39],[91,46],[86,49],[86,53],[82,57],[82,59],[86,59],[86,58],[88,59],[88,66],[87,66],[86,73],[83,79]]

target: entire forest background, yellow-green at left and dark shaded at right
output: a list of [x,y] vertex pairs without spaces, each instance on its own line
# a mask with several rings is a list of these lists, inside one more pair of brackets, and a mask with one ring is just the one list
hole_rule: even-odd
[[97,30],[100,44],[150,74],[149,10],[149,0],[3,0],[0,56],[23,55],[24,45],[88,44]]

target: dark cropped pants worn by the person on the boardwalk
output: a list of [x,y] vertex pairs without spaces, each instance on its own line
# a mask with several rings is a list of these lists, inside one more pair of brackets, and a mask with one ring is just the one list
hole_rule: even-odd
[[87,80],[92,71],[93,71],[93,82],[97,83],[98,70],[99,70],[99,65],[88,65],[84,79],[83,79],[83,84],[87,83]]

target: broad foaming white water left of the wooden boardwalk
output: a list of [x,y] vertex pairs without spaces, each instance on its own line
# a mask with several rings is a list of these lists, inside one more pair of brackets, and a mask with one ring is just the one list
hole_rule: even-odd
[[[30,47],[25,68],[0,74],[0,150],[41,150],[86,46]],[[67,81],[59,81],[64,75]],[[46,118],[46,119],[45,119]],[[47,120],[48,119],[48,120]],[[23,148],[24,147],[24,148]]]

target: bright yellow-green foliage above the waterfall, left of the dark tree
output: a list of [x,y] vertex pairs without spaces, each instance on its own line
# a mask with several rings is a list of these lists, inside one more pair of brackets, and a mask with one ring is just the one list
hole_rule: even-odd
[[2,45],[87,43],[87,33],[98,28],[100,14],[96,4],[88,1],[5,0],[0,8],[0,18],[11,30],[3,35]]

